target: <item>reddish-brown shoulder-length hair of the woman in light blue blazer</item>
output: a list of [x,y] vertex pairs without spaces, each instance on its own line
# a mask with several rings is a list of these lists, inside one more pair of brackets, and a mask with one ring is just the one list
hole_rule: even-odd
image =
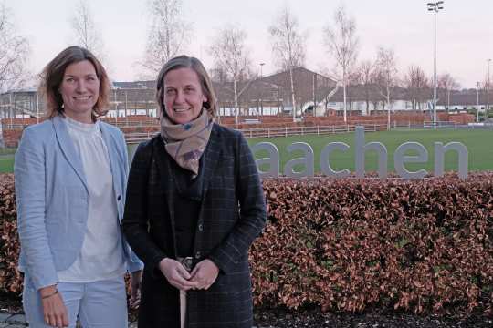
[[92,55],[88,49],[81,46],[68,46],[67,49],[51,60],[41,73],[39,91],[46,98],[48,118],[63,114],[63,99],[59,87],[63,81],[65,70],[69,65],[84,60],[89,60],[100,80],[100,96],[96,105],[92,108],[91,118],[94,121],[108,111],[106,108],[108,108],[110,97],[110,79],[106,74],[106,70],[102,67],[98,58]]

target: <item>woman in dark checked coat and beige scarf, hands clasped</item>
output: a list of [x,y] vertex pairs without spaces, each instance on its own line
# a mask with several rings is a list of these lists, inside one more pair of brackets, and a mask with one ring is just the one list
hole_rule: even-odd
[[144,261],[139,327],[252,327],[248,248],[266,207],[241,133],[214,122],[202,63],[171,59],[157,80],[161,133],[131,164],[123,231]]

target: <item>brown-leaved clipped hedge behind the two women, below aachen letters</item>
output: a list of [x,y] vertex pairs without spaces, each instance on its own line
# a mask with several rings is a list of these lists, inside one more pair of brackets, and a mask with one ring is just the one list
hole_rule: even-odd
[[[14,182],[0,175],[0,292],[21,291]],[[493,172],[467,180],[266,179],[257,306],[491,314]]]

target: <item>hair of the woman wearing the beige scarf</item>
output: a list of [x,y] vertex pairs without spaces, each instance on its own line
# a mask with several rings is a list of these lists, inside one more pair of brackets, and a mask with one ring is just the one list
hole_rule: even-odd
[[163,104],[164,97],[164,77],[168,74],[169,71],[178,68],[192,68],[197,76],[199,77],[200,86],[202,87],[202,93],[207,98],[207,101],[203,104],[203,107],[207,109],[209,115],[211,117],[215,117],[216,110],[216,98],[214,88],[212,86],[211,78],[207,74],[204,65],[195,57],[192,56],[176,56],[170,60],[166,64],[164,64],[163,68],[159,72],[157,77],[157,85],[156,85],[156,101],[158,104],[158,108],[164,114],[166,113]]

